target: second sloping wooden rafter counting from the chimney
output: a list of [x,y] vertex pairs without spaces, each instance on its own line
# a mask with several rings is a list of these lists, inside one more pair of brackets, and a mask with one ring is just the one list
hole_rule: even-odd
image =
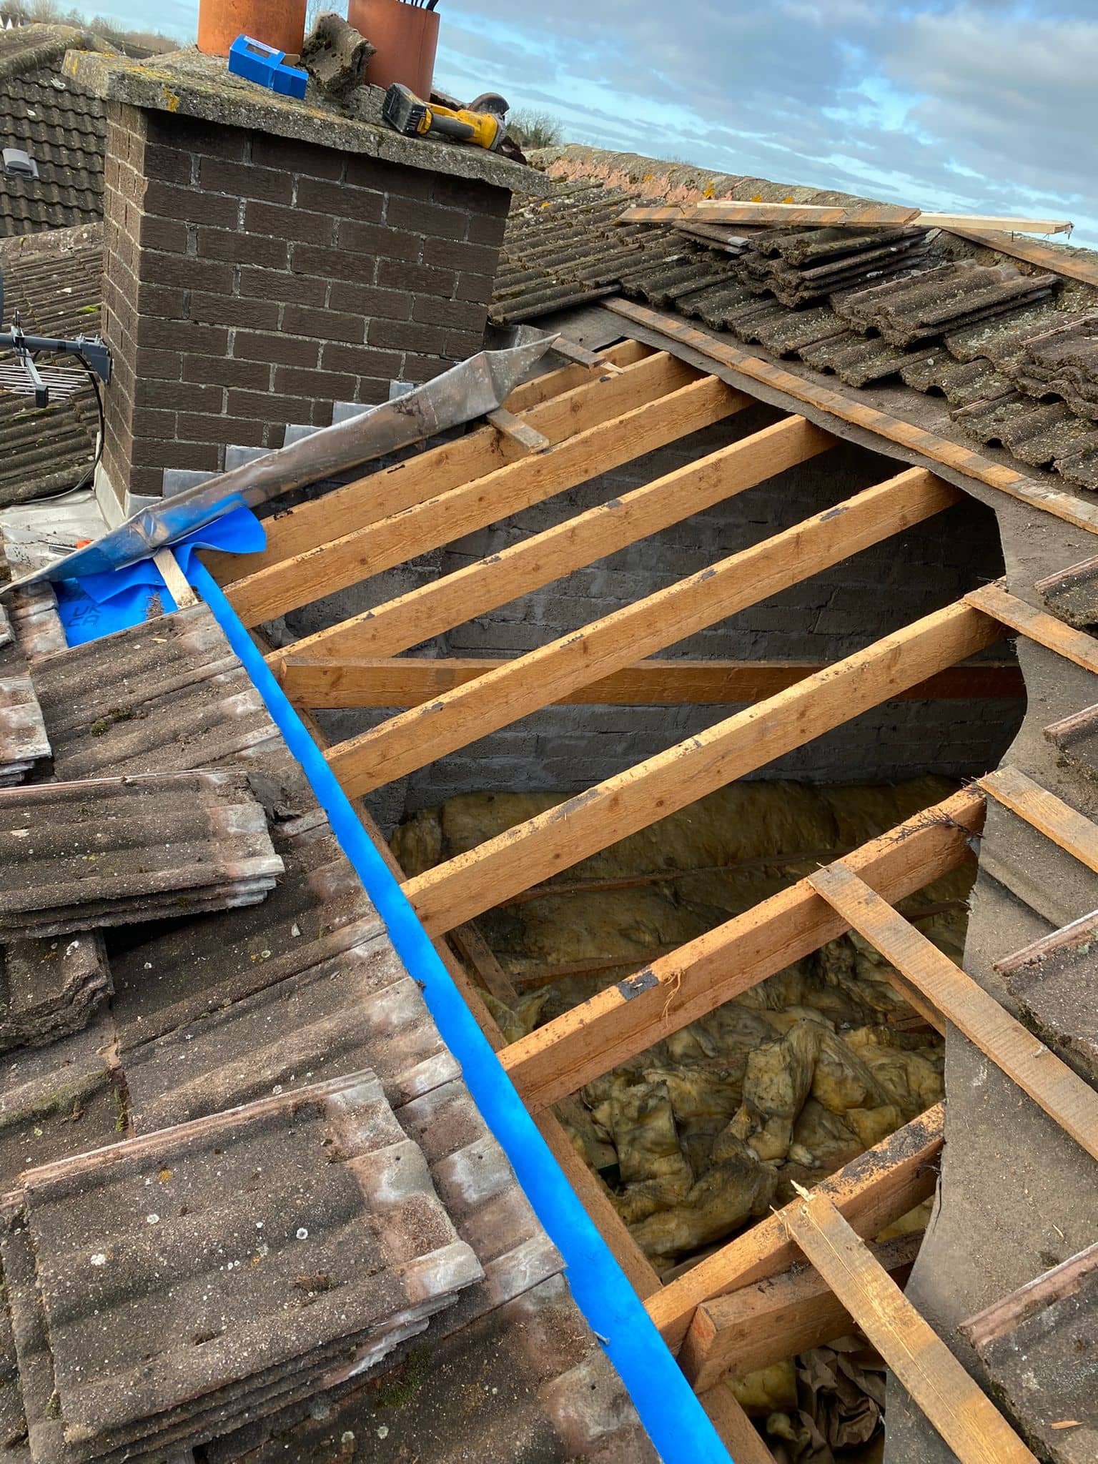
[[[647,365],[649,362],[641,362],[631,369],[644,370]],[[625,379],[618,376],[609,388]],[[545,452],[508,463],[488,477],[436,492],[433,498],[391,512],[386,518],[378,518],[338,539],[331,537],[329,529],[326,543],[237,580],[225,593],[244,625],[255,625],[367,580],[372,574],[391,569],[429,549],[452,543],[498,518],[508,518],[523,508],[545,502],[600,473],[609,473],[646,452],[720,422],[747,404],[748,398],[742,392],[732,391],[716,376],[703,376],[688,386],[644,401],[622,416],[565,438]],[[316,502],[325,504],[326,499]],[[329,524],[332,523],[329,518]]]

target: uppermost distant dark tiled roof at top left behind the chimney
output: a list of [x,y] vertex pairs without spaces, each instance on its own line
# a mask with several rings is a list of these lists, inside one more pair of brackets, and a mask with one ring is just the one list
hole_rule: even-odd
[[0,176],[0,237],[102,217],[104,105],[75,88],[61,63],[69,50],[104,47],[70,25],[0,31],[0,138],[38,167],[37,179]]

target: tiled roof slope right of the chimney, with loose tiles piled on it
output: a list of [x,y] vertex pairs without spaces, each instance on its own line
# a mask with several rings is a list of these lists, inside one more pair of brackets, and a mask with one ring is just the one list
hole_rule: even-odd
[[536,161],[553,192],[512,203],[496,324],[612,296],[643,300],[772,356],[799,357],[855,392],[902,384],[944,397],[957,441],[1001,445],[1026,468],[1098,489],[1091,252],[1044,246],[1038,265],[914,225],[618,224],[641,199],[855,201],[578,146]]

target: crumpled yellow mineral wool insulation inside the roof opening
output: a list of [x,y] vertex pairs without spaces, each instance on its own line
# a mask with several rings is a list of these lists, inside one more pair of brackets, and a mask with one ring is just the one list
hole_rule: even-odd
[[[934,777],[722,789],[480,916],[518,990],[511,1007],[489,1006],[515,1041],[952,792]],[[394,852],[422,873],[559,801],[454,798],[398,829]],[[899,906],[957,960],[972,873],[952,871]],[[832,941],[569,1105],[577,1151],[659,1271],[728,1240],[792,1198],[793,1183],[817,1183],[941,1098],[941,1041],[887,976],[856,934]]]

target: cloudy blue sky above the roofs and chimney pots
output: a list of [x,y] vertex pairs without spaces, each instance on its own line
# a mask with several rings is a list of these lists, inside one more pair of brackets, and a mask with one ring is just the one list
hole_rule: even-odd
[[[195,35],[198,0],[94,9]],[[1069,218],[1072,242],[1098,247],[1098,0],[439,0],[439,13],[438,86],[552,113],[569,142],[934,212]]]

